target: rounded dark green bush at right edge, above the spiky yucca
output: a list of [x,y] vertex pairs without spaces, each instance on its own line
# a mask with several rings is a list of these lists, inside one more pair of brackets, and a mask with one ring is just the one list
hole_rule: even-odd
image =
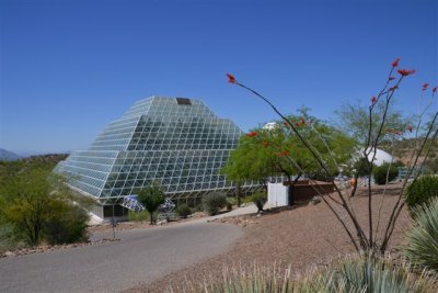
[[411,185],[405,190],[404,196],[406,204],[410,209],[415,205],[423,204],[431,198],[438,195],[438,177],[435,176],[422,176],[418,177]]

